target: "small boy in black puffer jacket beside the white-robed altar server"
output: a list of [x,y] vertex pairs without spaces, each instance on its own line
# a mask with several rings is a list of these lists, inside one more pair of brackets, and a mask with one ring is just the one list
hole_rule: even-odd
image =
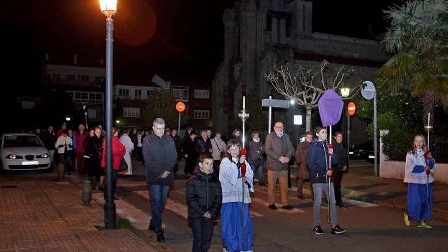
[[213,235],[213,220],[222,204],[219,179],[213,175],[213,157],[202,154],[199,170],[186,186],[188,221],[193,230],[193,252],[205,252],[210,248]]

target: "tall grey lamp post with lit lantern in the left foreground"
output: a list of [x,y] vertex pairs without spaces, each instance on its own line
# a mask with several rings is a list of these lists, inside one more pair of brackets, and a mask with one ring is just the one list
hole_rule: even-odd
[[107,199],[104,205],[106,229],[115,229],[115,203],[112,195],[112,42],[114,23],[112,16],[117,12],[117,0],[100,0],[101,12],[106,16],[106,181]]

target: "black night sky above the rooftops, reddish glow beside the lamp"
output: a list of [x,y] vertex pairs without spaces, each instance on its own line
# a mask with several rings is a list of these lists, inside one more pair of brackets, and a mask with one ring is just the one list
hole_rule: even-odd
[[[315,31],[371,37],[385,31],[382,10],[402,1],[313,2]],[[119,0],[115,76],[170,71],[211,81],[222,60],[222,13],[232,5],[231,0]],[[8,1],[0,23],[4,85],[20,82],[17,87],[33,90],[45,53],[50,60],[78,54],[80,65],[105,57],[105,18],[97,0]]]

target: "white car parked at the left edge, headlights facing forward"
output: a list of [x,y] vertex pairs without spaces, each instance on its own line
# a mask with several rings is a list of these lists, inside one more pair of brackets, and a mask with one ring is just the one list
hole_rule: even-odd
[[49,151],[35,134],[3,134],[0,146],[0,168],[3,170],[30,171],[51,167]]

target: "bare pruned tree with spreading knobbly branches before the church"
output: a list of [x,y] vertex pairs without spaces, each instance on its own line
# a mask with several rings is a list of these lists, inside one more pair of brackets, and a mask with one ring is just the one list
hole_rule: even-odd
[[[294,74],[288,64],[279,68],[274,65],[273,69],[268,74],[265,74],[266,80],[271,83],[279,94],[286,99],[294,100],[298,106],[305,108],[306,131],[311,130],[311,112],[318,106],[317,102],[321,95],[327,89],[349,87],[347,83],[344,83],[344,80],[351,75],[353,68],[337,67],[331,74],[328,73],[331,72],[328,71],[328,64],[328,61],[322,61],[318,70],[299,66]],[[360,83],[352,85],[350,95],[343,99],[353,98],[360,88]]]

